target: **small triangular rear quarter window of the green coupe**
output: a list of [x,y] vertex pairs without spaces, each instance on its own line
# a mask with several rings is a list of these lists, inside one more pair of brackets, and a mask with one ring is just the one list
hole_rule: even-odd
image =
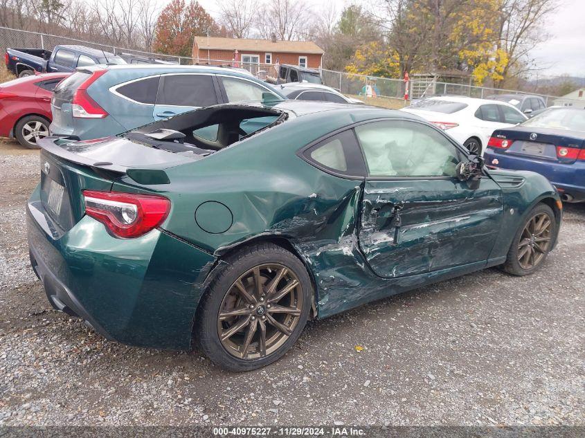
[[316,167],[336,174],[363,176],[363,158],[352,129],[340,132],[309,147],[305,159]]

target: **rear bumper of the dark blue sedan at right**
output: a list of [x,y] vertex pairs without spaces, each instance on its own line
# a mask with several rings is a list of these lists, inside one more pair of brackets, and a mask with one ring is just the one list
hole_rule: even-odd
[[537,172],[555,185],[561,196],[569,195],[575,201],[585,200],[585,161],[575,161],[573,164],[555,163],[496,152],[490,147],[485,151],[485,164],[498,169]]

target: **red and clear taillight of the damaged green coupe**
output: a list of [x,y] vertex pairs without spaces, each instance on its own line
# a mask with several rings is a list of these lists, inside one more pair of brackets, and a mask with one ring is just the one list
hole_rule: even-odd
[[84,190],[85,212],[103,223],[116,237],[139,237],[168,216],[170,201],[154,194]]

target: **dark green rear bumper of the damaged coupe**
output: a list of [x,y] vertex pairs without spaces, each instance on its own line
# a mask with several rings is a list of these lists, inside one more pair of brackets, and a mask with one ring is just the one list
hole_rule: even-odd
[[161,230],[116,239],[87,216],[57,237],[37,197],[26,209],[30,261],[53,307],[120,343],[190,348],[215,257]]

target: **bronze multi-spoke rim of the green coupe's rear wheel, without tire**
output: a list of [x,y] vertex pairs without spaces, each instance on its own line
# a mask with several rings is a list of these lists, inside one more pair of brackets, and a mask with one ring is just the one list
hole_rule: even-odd
[[282,264],[246,271],[226,293],[217,333],[226,351],[241,359],[263,358],[291,336],[303,311],[298,277]]

